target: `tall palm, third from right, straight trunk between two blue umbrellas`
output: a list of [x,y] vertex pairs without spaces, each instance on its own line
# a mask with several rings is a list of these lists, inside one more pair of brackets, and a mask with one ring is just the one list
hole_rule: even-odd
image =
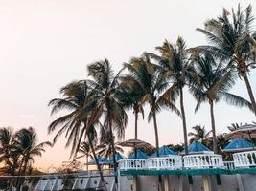
[[169,43],[167,40],[161,47],[156,47],[160,55],[151,53],[151,57],[156,59],[162,67],[162,72],[171,82],[171,87],[166,94],[171,95],[170,98],[179,96],[180,111],[183,123],[183,135],[185,153],[188,154],[188,138],[187,124],[184,109],[183,89],[189,85],[191,79],[197,75],[193,65],[189,62],[186,44],[182,37],[178,37],[175,44]]

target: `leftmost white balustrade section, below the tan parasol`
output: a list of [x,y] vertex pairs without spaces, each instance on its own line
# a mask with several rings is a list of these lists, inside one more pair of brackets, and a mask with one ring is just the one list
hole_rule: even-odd
[[121,159],[118,161],[121,170],[147,169],[147,159]]

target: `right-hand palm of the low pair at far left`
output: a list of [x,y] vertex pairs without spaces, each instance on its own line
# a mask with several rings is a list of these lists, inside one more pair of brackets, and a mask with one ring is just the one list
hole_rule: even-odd
[[51,146],[51,142],[44,141],[38,143],[38,136],[35,129],[29,127],[17,131],[14,135],[14,149],[21,153],[20,172],[22,175],[26,174],[28,165],[34,162],[36,156],[41,156],[45,152],[45,146]]

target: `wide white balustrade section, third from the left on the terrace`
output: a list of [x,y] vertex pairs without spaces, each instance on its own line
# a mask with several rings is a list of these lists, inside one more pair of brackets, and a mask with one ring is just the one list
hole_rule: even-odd
[[187,155],[183,157],[184,168],[224,168],[221,155],[216,154],[201,154]]

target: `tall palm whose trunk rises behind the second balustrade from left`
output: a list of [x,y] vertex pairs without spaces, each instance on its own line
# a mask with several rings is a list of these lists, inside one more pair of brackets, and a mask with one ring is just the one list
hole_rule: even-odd
[[141,104],[149,103],[151,110],[148,120],[153,119],[156,154],[159,157],[159,138],[156,113],[160,112],[162,107],[168,107],[179,114],[174,102],[169,99],[168,94],[161,93],[167,88],[168,81],[163,73],[159,73],[158,66],[151,63],[146,54],[140,58],[132,58],[129,64],[125,64],[130,75],[133,76],[137,84],[140,84],[145,95],[141,98]]

